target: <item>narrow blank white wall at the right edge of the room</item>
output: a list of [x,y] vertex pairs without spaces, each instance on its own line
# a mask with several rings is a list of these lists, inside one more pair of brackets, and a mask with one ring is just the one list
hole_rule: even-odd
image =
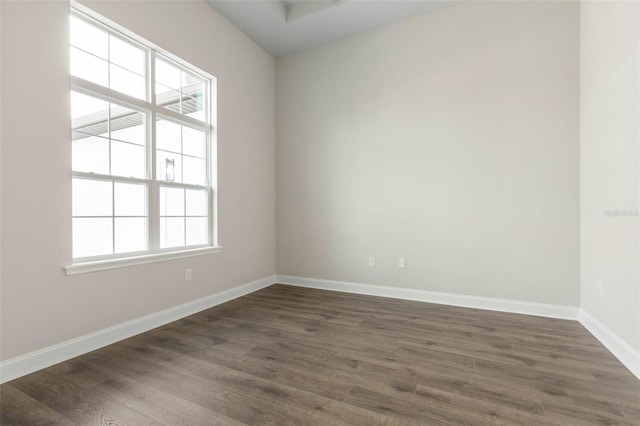
[[640,3],[583,2],[580,41],[581,305],[640,353],[638,217],[607,215],[638,209]]

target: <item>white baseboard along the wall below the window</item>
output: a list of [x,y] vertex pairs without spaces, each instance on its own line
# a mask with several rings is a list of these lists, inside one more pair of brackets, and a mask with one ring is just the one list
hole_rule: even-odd
[[172,321],[193,315],[224,302],[236,299],[275,282],[275,275],[252,281],[154,314],[136,318],[104,330],[96,331],[57,345],[0,362],[0,383],[17,379],[62,361],[128,339]]

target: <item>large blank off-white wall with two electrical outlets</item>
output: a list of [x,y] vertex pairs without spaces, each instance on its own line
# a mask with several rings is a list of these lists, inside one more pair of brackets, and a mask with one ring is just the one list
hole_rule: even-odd
[[278,59],[278,273],[578,306],[578,25],[469,2]]

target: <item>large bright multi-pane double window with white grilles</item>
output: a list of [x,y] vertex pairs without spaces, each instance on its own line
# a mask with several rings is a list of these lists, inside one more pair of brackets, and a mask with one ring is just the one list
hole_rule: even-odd
[[215,78],[76,9],[70,70],[74,264],[215,248]]

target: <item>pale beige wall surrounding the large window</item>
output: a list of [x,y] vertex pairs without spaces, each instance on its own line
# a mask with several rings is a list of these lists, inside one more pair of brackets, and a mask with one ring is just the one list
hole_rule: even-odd
[[[65,276],[69,3],[2,9],[1,359],[275,274],[275,64],[204,2],[89,2],[218,78],[220,254]],[[184,282],[184,269],[193,281]]]

